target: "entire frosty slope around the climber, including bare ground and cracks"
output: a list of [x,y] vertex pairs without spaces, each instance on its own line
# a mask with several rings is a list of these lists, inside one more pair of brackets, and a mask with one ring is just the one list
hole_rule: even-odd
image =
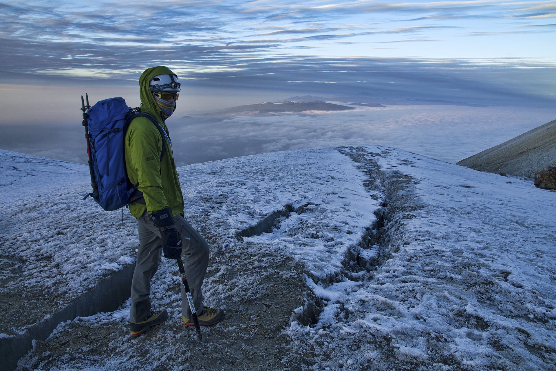
[[[80,266],[76,256],[108,270],[133,257],[127,213],[122,229],[119,212],[81,200],[86,167],[0,155],[28,174],[62,169],[48,192],[29,192],[16,172],[3,180],[3,253],[58,262],[33,260],[29,279],[39,285],[48,269],[53,284],[67,281],[59,290],[78,291],[76,280],[97,278],[90,269],[84,278],[65,273]],[[16,164],[26,161],[46,164]],[[128,303],[78,318],[36,342],[21,369],[556,367],[556,194],[531,181],[387,147],[277,152],[178,171],[186,217],[212,245],[207,304],[224,306],[227,319],[203,328],[195,344],[180,324],[176,269],[165,260],[152,300],[168,308],[167,322],[133,340]],[[22,191],[32,197],[19,198]],[[32,235],[42,237],[27,247]],[[3,283],[18,280],[10,272]]]

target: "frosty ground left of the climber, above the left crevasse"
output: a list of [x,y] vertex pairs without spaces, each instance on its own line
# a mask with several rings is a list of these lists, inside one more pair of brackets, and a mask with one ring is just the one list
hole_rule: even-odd
[[0,332],[21,334],[135,261],[136,225],[91,199],[88,167],[0,150]]

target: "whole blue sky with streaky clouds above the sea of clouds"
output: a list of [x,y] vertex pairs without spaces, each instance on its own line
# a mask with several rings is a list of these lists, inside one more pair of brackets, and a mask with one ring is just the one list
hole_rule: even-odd
[[138,78],[156,65],[183,83],[180,116],[307,94],[556,107],[556,1],[4,1],[0,11],[0,130],[12,137],[80,125],[85,92],[137,106]]

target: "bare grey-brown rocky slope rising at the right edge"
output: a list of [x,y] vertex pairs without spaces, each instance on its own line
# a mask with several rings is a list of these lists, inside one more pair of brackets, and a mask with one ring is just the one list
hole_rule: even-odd
[[533,177],[556,166],[556,120],[458,162],[479,171]]

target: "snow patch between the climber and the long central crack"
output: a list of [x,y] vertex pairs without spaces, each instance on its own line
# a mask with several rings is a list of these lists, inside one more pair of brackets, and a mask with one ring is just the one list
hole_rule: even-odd
[[190,165],[181,168],[180,179],[191,205],[187,212],[213,207],[207,222],[227,226],[230,243],[264,216],[286,205],[301,207],[283,218],[276,233],[245,240],[271,239],[324,279],[339,273],[345,249],[359,244],[380,205],[363,187],[365,175],[355,165],[335,150],[297,150]]

